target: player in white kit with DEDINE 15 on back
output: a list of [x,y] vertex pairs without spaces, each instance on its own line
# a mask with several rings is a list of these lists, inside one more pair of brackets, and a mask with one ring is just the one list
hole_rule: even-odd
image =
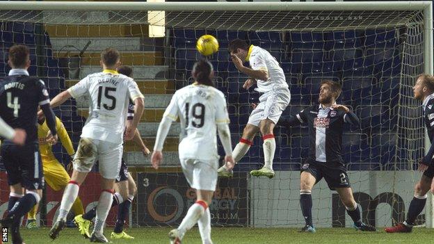
[[123,74],[116,72],[120,65],[120,54],[116,49],[108,48],[102,51],[102,72],[89,74],[76,85],[51,100],[51,106],[56,107],[70,97],[76,98],[90,95],[89,115],[81,132],[77,153],[74,156],[74,171],[71,181],[63,193],[59,215],[56,223],[49,231],[49,236],[57,238],[65,227],[67,213],[70,211],[77,195],[79,186],[86,179],[95,161],[99,161],[102,193],[97,205],[95,226],[90,241],[108,243],[103,234],[104,222],[113,201],[113,188],[118,177],[122,142],[129,99],[134,101],[134,119],[127,124],[126,140],[131,140],[143,113],[143,95],[137,83]]

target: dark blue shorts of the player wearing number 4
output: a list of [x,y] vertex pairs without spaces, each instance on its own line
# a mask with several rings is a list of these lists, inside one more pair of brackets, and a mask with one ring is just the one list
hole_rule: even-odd
[[24,146],[3,143],[0,148],[0,158],[6,168],[10,186],[21,183],[29,190],[42,189],[44,172],[38,143]]

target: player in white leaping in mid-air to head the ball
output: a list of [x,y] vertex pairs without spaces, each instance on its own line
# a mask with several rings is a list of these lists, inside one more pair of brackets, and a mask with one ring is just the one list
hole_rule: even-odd
[[[246,155],[255,134],[261,131],[264,140],[262,145],[264,167],[260,170],[252,170],[250,174],[256,177],[273,178],[275,153],[273,129],[291,100],[291,93],[284,72],[278,61],[268,51],[254,45],[249,46],[244,40],[232,40],[229,44],[229,51],[236,69],[250,76],[243,84],[243,88],[249,89],[256,84],[255,90],[264,93],[259,97],[259,104],[250,114],[243,130],[243,136],[234,149],[234,161],[238,162]],[[250,68],[243,65],[244,61],[250,63]],[[223,165],[218,169],[218,174],[220,177],[232,177],[233,172]]]

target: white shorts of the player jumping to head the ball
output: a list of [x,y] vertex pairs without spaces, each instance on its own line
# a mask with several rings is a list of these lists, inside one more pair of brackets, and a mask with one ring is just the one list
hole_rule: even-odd
[[247,123],[259,127],[262,120],[269,119],[277,124],[289,101],[291,101],[291,93],[288,88],[264,93],[259,97],[259,104],[250,113]]

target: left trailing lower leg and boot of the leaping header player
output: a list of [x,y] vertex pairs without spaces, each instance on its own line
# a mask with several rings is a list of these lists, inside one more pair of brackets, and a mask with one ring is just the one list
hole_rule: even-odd
[[[253,124],[246,124],[244,127],[243,135],[239,143],[235,146],[232,156],[234,157],[235,163],[238,163],[244,155],[247,154],[248,149],[252,145],[253,138],[255,138],[256,133],[259,131],[259,127],[255,127]],[[218,177],[232,177],[234,172],[232,170],[227,170],[225,168],[225,163],[218,170]]]

